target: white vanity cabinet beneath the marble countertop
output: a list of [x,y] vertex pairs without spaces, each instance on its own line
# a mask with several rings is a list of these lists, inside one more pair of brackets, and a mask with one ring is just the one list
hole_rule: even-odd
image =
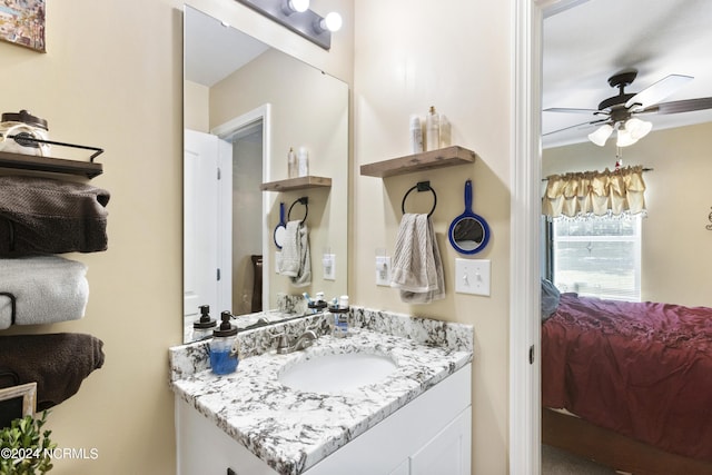
[[[469,475],[472,364],[355,437],[304,475]],[[179,475],[275,475],[176,396]]]

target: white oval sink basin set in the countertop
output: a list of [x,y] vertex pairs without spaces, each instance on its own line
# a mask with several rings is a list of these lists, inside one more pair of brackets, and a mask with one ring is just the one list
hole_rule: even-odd
[[308,393],[335,394],[386,378],[397,366],[387,356],[345,353],[317,356],[285,367],[279,383]]

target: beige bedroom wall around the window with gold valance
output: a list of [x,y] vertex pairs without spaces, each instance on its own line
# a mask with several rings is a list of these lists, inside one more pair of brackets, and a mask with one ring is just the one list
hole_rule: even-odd
[[[641,290],[643,300],[712,306],[704,283],[712,280],[705,258],[712,231],[710,147],[712,123],[653,131],[623,148],[623,165],[652,168],[646,184],[647,218],[643,219]],[[614,140],[544,150],[542,176],[603,170],[615,166]]]

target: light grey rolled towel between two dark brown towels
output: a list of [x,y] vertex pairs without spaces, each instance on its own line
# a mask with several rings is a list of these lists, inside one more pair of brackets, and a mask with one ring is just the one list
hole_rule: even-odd
[[[12,294],[14,301],[8,295]],[[87,266],[60,256],[0,259],[0,329],[52,324],[85,316]]]

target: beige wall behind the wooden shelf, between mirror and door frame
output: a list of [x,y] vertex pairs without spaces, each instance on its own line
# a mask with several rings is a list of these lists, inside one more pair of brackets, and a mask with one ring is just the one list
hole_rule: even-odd
[[[356,2],[354,80],[353,301],[475,327],[473,364],[473,469],[507,472],[510,298],[510,77],[508,2],[359,0]],[[453,125],[453,144],[477,152],[472,166],[379,179],[359,167],[409,152],[408,116],[429,106]],[[474,185],[475,212],[492,228],[476,258],[492,260],[492,296],[454,294],[458,255],[449,222],[464,210],[464,185]],[[447,297],[431,305],[403,304],[395,289],[376,287],[377,248],[393,253],[403,195],[429,179],[437,192],[433,215],[445,265]],[[428,194],[429,195],[429,194]],[[426,211],[424,199],[417,209]],[[411,208],[413,206],[414,208]]]

